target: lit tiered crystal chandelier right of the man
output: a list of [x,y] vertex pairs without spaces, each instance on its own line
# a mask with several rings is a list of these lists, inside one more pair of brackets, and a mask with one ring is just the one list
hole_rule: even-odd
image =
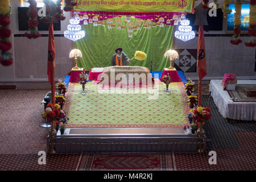
[[190,21],[184,19],[180,21],[179,31],[175,31],[175,38],[180,39],[184,42],[195,38],[195,32],[192,31],[192,27],[189,26]]

